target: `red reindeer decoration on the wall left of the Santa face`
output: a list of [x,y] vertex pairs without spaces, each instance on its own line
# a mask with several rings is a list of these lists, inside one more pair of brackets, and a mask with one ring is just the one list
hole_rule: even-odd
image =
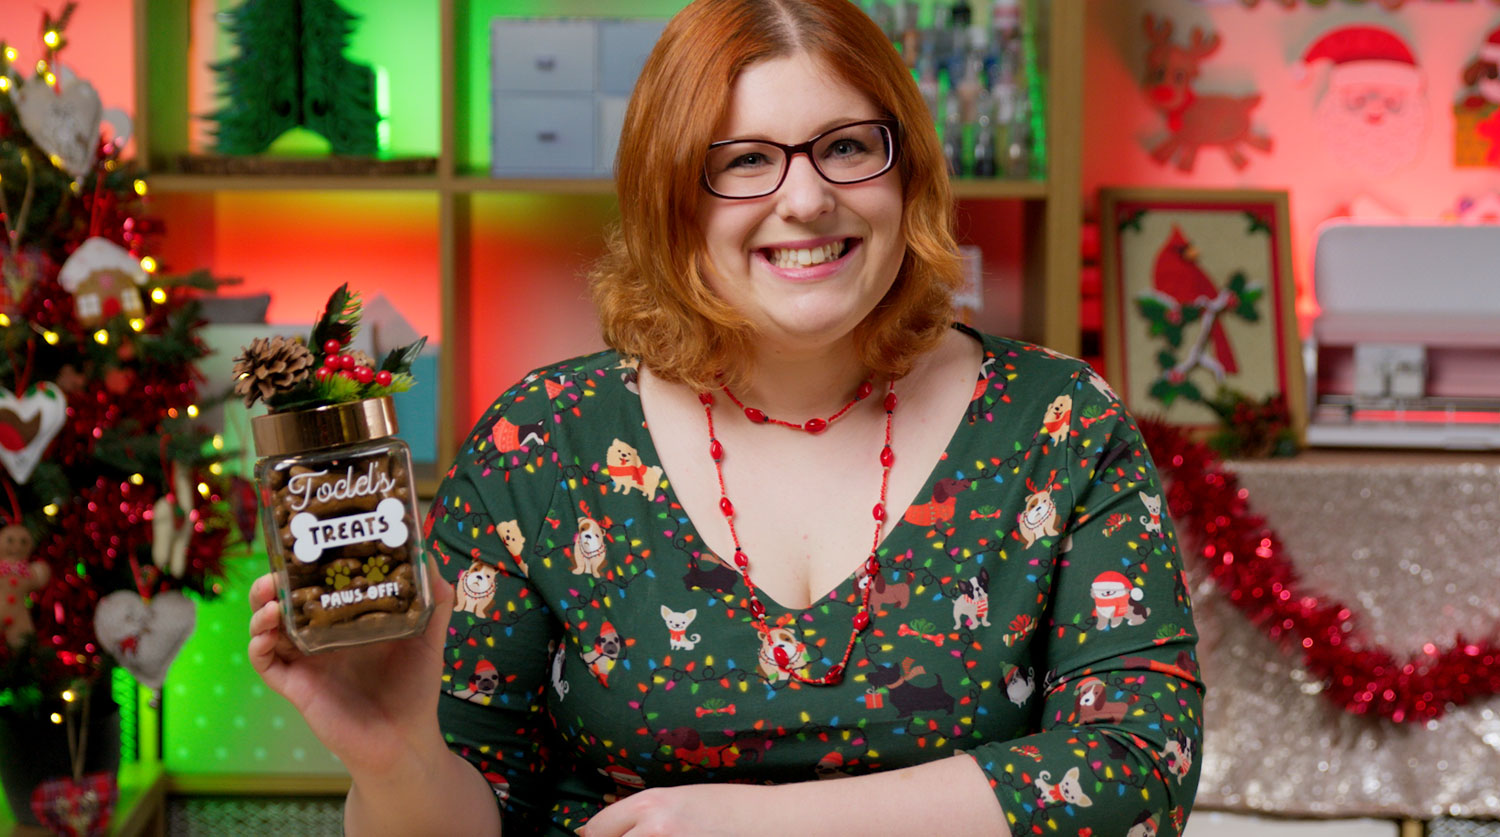
[[1178,168],[1192,171],[1198,148],[1216,146],[1224,148],[1234,168],[1245,168],[1250,159],[1239,147],[1250,146],[1270,152],[1270,138],[1256,134],[1250,126],[1250,111],[1260,104],[1260,93],[1250,96],[1200,96],[1192,90],[1198,76],[1198,64],[1220,48],[1218,34],[1203,34],[1192,28],[1192,42],[1178,46],[1172,42],[1172,21],[1160,24],[1154,15],[1146,15],[1146,38],[1150,51],[1146,52],[1146,94],[1150,104],[1167,117],[1167,140],[1150,150],[1150,158],[1166,165],[1176,158]]

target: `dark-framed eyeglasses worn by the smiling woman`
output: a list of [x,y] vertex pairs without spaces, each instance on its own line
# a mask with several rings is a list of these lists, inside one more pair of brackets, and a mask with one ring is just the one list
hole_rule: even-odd
[[894,118],[872,118],[840,124],[796,146],[770,140],[714,142],[704,160],[704,189],[736,201],[764,198],[782,188],[796,154],[807,154],[813,170],[830,183],[873,180],[896,164],[896,128]]

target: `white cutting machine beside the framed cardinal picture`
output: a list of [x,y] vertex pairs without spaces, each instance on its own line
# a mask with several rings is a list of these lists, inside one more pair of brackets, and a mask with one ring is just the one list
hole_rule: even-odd
[[1324,225],[1311,446],[1500,448],[1500,226]]

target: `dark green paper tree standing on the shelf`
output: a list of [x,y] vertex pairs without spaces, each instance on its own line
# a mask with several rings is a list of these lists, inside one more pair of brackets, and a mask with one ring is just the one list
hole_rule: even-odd
[[226,20],[240,54],[213,64],[230,99],[208,117],[216,152],[255,154],[297,126],[334,154],[376,152],[375,70],[344,57],[354,15],[334,0],[246,0]]

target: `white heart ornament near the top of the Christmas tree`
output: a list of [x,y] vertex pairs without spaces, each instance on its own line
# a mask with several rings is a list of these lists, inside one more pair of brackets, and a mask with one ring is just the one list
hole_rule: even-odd
[[32,76],[16,86],[12,98],[21,128],[32,141],[46,152],[52,165],[82,180],[99,153],[104,104],[93,84],[62,68],[56,72],[57,90],[44,78]]

